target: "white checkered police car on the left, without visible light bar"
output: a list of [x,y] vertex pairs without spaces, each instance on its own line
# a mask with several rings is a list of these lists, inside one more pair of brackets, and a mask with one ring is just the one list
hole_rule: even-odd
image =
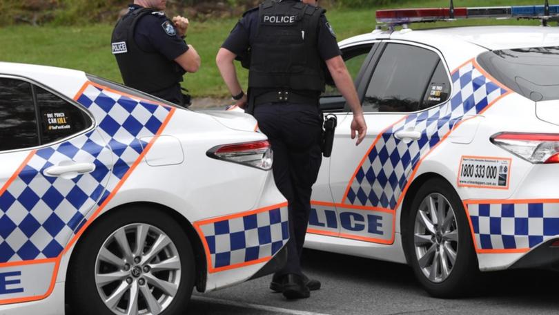
[[0,63],[0,313],[183,314],[267,274],[286,201],[255,120]]

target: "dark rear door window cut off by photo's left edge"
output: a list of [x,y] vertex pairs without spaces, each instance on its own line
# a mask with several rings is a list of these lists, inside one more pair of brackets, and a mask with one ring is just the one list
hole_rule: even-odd
[[0,77],[0,151],[39,145],[31,84]]

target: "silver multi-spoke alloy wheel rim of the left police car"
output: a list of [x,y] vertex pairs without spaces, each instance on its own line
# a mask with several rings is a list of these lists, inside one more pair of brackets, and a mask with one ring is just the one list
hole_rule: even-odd
[[95,261],[95,284],[117,315],[157,315],[173,302],[181,261],[173,240],[152,225],[120,227],[103,243]]

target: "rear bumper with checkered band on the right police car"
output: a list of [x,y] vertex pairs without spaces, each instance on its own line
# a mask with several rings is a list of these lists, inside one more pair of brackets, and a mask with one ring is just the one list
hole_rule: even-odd
[[556,264],[559,250],[549,244],[559,238],[558,175],[558,165],[536,164],[510,198],[464,200],[480,269]]

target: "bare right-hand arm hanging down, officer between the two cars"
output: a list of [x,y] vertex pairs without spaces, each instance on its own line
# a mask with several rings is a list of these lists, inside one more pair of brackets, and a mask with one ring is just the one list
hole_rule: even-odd
[[355,133],[358,134],[357,144],[360,144],[367,132],[367,126],[363,117],[363,110],[353,85],[353,79],[349,75],[346,68],[344,59],[341,56],[333,57],[326,60],[326,66],[334,79],[334,83],[342,96],[346,99],[351,111],[353,112],[353,122],[351,123],[351,138],[355,138]]

